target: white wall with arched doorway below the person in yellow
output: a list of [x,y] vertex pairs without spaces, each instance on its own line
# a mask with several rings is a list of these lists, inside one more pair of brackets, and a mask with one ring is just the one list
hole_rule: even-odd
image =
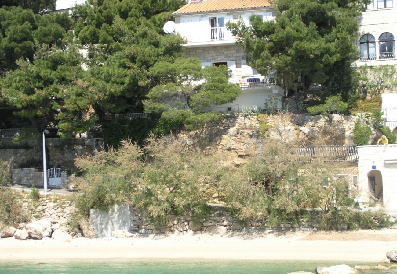
[[384,207],[397,210],[397,145],[358,146],[358,185],[363,202],[369,202],[368,175],[375,176],[376,195]]

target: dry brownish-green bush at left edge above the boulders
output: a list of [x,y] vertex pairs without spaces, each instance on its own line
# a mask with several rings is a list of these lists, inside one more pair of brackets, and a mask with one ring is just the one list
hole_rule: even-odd
[[0,220],[5,225],[17,226],[29,221],[29,216],[22,211],[21,194],[5,187],[0,187]]

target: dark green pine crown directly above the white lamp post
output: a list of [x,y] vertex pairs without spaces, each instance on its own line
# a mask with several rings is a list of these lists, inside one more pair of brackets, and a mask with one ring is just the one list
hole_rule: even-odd
[[42,118],[47,123],[60,120],[58,126],[64,134],[76,130],[79,124],[85,131],[89,94],[79,81],[84,73],[81,60],[81,54],[72,46],[67,51],[40,48],[34,63],[19,59],[18,68],[2,79],[2,98],[9,107],[16,108],[15,115],[28,118],[35,129],[39,129]]

